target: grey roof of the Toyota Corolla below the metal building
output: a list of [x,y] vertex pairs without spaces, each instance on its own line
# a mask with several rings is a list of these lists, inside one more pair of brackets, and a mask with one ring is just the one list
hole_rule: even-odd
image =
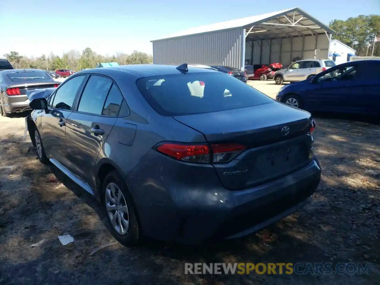
[[[160,65],[160,64],[133,64],[133,65],[120,65],[116,67],[99,67],[93,68],[90,70],[81,70],[76,74],[84,73],[98,73],[105,75],[114,75],[116,73],[129,73],[135,74],[140,77],[150,77],[150,76],[160,76],[160,75],[169,75],[169,74],[181,74],[183,71],[177,69],[177,65]],[[215,72],[219,73],[216,70],[192,67],[188,65],[187,73],[210,73]]]

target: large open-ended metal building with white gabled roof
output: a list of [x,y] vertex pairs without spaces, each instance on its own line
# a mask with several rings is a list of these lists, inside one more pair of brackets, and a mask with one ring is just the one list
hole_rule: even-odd
[[244,65],[328,58],[334,33],[300,8],[285,9],[174,33],[153,40],[155,64]]

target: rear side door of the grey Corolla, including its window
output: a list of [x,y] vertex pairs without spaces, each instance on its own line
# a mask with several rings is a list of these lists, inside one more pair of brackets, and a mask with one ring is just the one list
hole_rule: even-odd
[[92,74],[67,121],[66,144],[71,171],[90,187],[94,186],[92,171],[98,154],[119,114],[122,99],[115,103],[117,96],[120,98],[120,91],[111,78]]

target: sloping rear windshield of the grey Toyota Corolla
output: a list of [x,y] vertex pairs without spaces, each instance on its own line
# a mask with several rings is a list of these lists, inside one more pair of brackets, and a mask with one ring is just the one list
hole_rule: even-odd
[[225,73],[187,73],[138,79],[138,89],[163,116],[182,116],[274,102]]

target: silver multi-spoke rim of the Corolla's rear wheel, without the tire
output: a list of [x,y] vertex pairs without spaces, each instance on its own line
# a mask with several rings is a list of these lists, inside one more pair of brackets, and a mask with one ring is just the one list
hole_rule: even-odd
[[120,188],[113,182],[106,187],[106,209],[115,231],[124,236],[128,233],[129,215],[125,198]]

